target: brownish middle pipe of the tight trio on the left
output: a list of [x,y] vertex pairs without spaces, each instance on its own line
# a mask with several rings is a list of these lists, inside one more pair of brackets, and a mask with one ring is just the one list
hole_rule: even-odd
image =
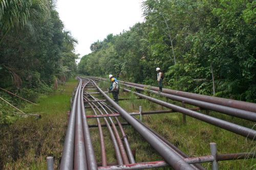
[[85,148],[84,136],[83,136],[81,101],[80,101],[82,80],[79,79],[79,81],[80,81],[80,84],[77,89],[78,96],[77,96],[77,103],[76,103],[74,169],[88,169],[86,148]]

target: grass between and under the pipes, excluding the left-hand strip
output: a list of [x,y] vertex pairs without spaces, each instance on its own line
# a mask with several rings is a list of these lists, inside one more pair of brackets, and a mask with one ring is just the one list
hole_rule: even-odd
[[[101,83],[101,86],[106,88],[108,83]],[[110,96],[112,95],[110,94]],[[129,112],[138,112],[139,106],[142,106],[144,111],[167,109],[143,99],[136,100],[137,97],[131,93],[121,92],[119,98],[132,99],[131,101],[119,101],[119,105]],[[159,99],[180,105],[179,102],[163,98]],[[186,107],[191,108],[192,106]],[[205,113],[205,111],[201,112]],[[254,127],[255,124],[247,120],[211,111],[209,114],[256,130]],[[256,142],[243,136],[209,125],[189,116],[186,116],[186,122],[186,124],[182,123],[182,114],[180,113],[143,115],[143,123],[161,134],[165,139],[175,144],[176,147],[191,157],[210,155],[210,142],[217,143],[219,154],[256,151]],[[137,162],[162,160],[161,156],[159,156],[156,151],[152,149],[150,144],[145,142],[132,127],[125,126],[124,130],[129,137],[132,150],[136,150]],[[96,130],[93,130],[93,133],[97,134],[97,132],[94,131]],[[111,147],[110,145],[109,149],[111,149]],[[95,143],[95,148],[97,148],[98,152],[100,151],[98,149],[98,143]],[[114,153],[111,152],[109,156],[112,156],[111,161],[114,161]],[[203,166],[206,169],[211,169],[210,163],[204,163]],[[256,169],[256,159],[220,161],[219,169]]]

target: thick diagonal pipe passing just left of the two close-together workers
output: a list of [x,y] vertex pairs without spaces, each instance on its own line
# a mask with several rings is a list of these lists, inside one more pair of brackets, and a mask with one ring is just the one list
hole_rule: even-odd
[[129,122],[142,136],[144,139],[146,139],[152,147],[165,159],[165,161],[171,165],[175,169],[194,169],[192,166],[190,166],[188,163],[186,163],[180,156],[178,156],[176,153],[174,153],[172,150],[170,150],[167,145],[159,141],[159,138],[157,138],[155,135],[152,135],[152,133],[146,129],[144,126],[142,126],[140,123],[136,121],[136,119],[129,115],[124,109],[122,109],[118,104],[116,104],[108,95],[106,95],[94,82],[94,85],[98,89],[99,92],[101,92],[102,95],[104,95],[105,99],[108,100],[115,109],[118,110],[118,112],[123,116],[123,118]]

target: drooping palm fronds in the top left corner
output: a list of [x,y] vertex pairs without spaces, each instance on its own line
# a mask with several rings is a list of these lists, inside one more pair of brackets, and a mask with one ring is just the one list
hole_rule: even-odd
[[34,33],[33,21],[50,15],[49,0],[0,0],[0,44],[11,29]]

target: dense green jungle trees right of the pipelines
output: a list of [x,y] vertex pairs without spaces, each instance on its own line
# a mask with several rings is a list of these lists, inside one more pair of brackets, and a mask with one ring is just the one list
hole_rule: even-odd
[[256,102],[256,1],[146,0],[145,20],[91,45],[81,74]]

